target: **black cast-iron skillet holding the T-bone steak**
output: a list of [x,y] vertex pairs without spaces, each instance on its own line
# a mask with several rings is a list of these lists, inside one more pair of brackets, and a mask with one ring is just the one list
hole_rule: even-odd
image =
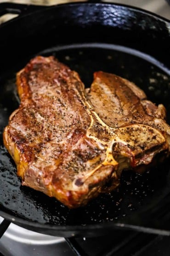
[[86,87],[98,70],[135,82],[151,101],[164,103],[170,123],[170,22],[130,6],[95,2],[0,4],[0,15],[7,12],[20,15],[0,25],[0,215],[64,237],[99,236],[115,228],[170,235],[170,160],[142,175],[124,171],[117,190],[69,210],[21,186],[2,141],[19,104],[16,72],[37,54],[56,56],[79,72]]

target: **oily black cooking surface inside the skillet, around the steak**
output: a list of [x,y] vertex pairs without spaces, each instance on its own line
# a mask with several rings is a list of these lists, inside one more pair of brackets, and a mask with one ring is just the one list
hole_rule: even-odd
[[[56,44],[52,48],[44,48],[41,52],[30,54],[29,59],[38,54],[54,55],[77,71],[85,87],[90,87],[93,72],[99,70],[133,81],[145,91],[149,100],[156,104],[164,104],[168,113],[167,121],[170,124],[170,71],[148,55],[110,43],[90,42],[62,46]],[[79,209],[70,210],[54,198],[21,186],[21,180],[16,175],[15,163],[3,146],[2,133],[10,114],[19,106],[15,85],[16,72],[27,62],[28,56],[23,56],[15,65],[11,65],[7,72],[0,74],[1,215],[14,222],[17,220],[16,223],[22,226],[26,220],[25,226],[32,230],[59,236],[70,236],[69,229],[75,229],[76,234],[76,229],[83,230],[89,225],[92,227],[90,235],[96,235],[98,224],[112,223],[114,226],[116,223],[127,223],[140,226],[144,225],[145,221],[149,222],[151,214],[148,214],[148,211],[157,209],[159,203],[170,193],[169,159],[142,175],[124,171],[118,189],[110,194],[98,196],[86,207]],[[140,214],[146,212],[147,219],[139,219]],[[158,214],[157,216],[159,217]],[[44,230],[37,229],[38,226],[42,227],[41,225],[44,225]],[[50,230],[50,226],[54,229]],[[62,230],[62,227],[68,227],[68,230]],[[101,233],[102,231],[98,232],[98,235]]]

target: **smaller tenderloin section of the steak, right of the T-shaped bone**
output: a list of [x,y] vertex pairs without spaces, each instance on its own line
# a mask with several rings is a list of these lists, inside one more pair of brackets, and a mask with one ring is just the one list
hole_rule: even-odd
[[170,144],[170,126],[165,122],[164,106],[159,104],[157,107],[148,101],[134,83],[106,72],[95,72],[87,99],[109,127],[149,125],[161,131]]

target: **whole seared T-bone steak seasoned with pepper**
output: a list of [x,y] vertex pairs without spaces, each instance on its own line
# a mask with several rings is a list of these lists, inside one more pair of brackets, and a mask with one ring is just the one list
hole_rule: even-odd
[[116,188],[123,169],[169,155],[164,106],[121,77],[96,72],[85,90],[77,72],[37,56],[17,73],[17,90],[21,103],[3,134],[17,175],[69,208]]

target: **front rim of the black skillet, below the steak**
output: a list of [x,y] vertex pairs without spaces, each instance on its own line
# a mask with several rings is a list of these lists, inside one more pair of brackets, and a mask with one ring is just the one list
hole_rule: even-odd
[[[1,214],[2,213],[2,214]],[[4,216],[5,214],[5,216]],[[132,214],[133,215],[133,214]],[[43,232],[43,231],[47,231],[47,230],[51,230],[51,234],[52,236],[58,236],[55,235],[55,232],[59,232],[59,236],[62,236],[61,234],[68,234],[68,236],[63,236],[63,237],[79,237],[80,236],[86,236],[88,237],[88,232],[93,232],[94,229],[97,231],[102,231],[103,234],[98,233],[98,235],[90,235],[90,237],[94,237],[94,236],[102,236],[105,235],[105,232],[107,230],[107,232],[111,232],[113,230],[116,229],[126,229],[126,230],[132,230],[132,231],[138,231],[138,232],[144,232],[144,233],[153,233],[153,234],[159,234],[159,235],[166,235],[166,236],[170,236],[170,230],[164,230],[164,229],[159,229],[159,228],[153,228],[153,227],[147,227],[147,226],[138,226],[138,225],[133,225],[133,224],[127,224],[127,223],[121,223],[119,221],[108,221],[105,223],[97,223],[97,224],[87,224],[87,225],[65,225],[65,226],[60,226],[60,225],[51,225],[51,224],[43,224],[40,222],[35,222],[35,221],[31,221],[31,220],[24,220],[23,218],[20,217],[15,217],[13,216],[13,218],[11,218],[11,214],[8,213],[4,213],[3,211],[0,210],[0,216],[2,218],[4,218],[5,220],[9,220],[11,223],[16,224],[17,226],[21,226],[23,228],[28,229],[28,227],[30,227],[30,230],[34,231],[34,232],[40,232],[43,234],[49,234],[48,232]],[[6,218],[7,216],[7,218]],[[32,225],[31,225],[31,224]],[[31,228],[32,227],[32,228]],[[35,231],[34,228],[40,228],[41,230],[37,230]],[[84,234],[82,234],[82,232],[85,232]]]

